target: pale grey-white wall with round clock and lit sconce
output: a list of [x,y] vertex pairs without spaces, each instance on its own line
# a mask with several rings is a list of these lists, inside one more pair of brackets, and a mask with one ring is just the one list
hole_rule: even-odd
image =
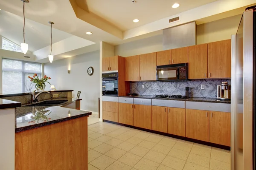
[[[92,66],[94,73],[87,74],[87,69]],[[70,67],[70,74],[67,73]],[[57,90],[81,91],[81,109],[98,112],[99,97],[99,51],[93,51],[66,59],[60,59],[52,63],[44,64],[44,74],[51,77],[49,82],[55,85]],[[46,90],[50,88],[47,85]]]

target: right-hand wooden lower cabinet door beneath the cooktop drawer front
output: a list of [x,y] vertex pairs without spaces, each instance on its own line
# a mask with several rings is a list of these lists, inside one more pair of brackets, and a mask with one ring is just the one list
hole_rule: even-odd
[[168,133],[185,137],[185,109],[167,108]]

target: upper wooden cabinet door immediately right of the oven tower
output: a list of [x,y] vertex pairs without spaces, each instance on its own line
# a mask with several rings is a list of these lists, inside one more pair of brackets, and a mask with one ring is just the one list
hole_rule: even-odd
[[140,56],[125,57],[125,81],[138,81]]

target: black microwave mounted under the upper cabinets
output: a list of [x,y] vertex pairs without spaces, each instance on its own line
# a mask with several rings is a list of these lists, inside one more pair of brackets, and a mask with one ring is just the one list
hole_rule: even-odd
[[156,80],[188,80],[188,63],[157,66],[156,74]]

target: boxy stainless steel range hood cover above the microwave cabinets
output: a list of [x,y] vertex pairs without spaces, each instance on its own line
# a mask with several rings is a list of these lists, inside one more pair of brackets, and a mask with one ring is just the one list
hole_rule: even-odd
[[197,44],[195,21],[163,30],[163,50]]

